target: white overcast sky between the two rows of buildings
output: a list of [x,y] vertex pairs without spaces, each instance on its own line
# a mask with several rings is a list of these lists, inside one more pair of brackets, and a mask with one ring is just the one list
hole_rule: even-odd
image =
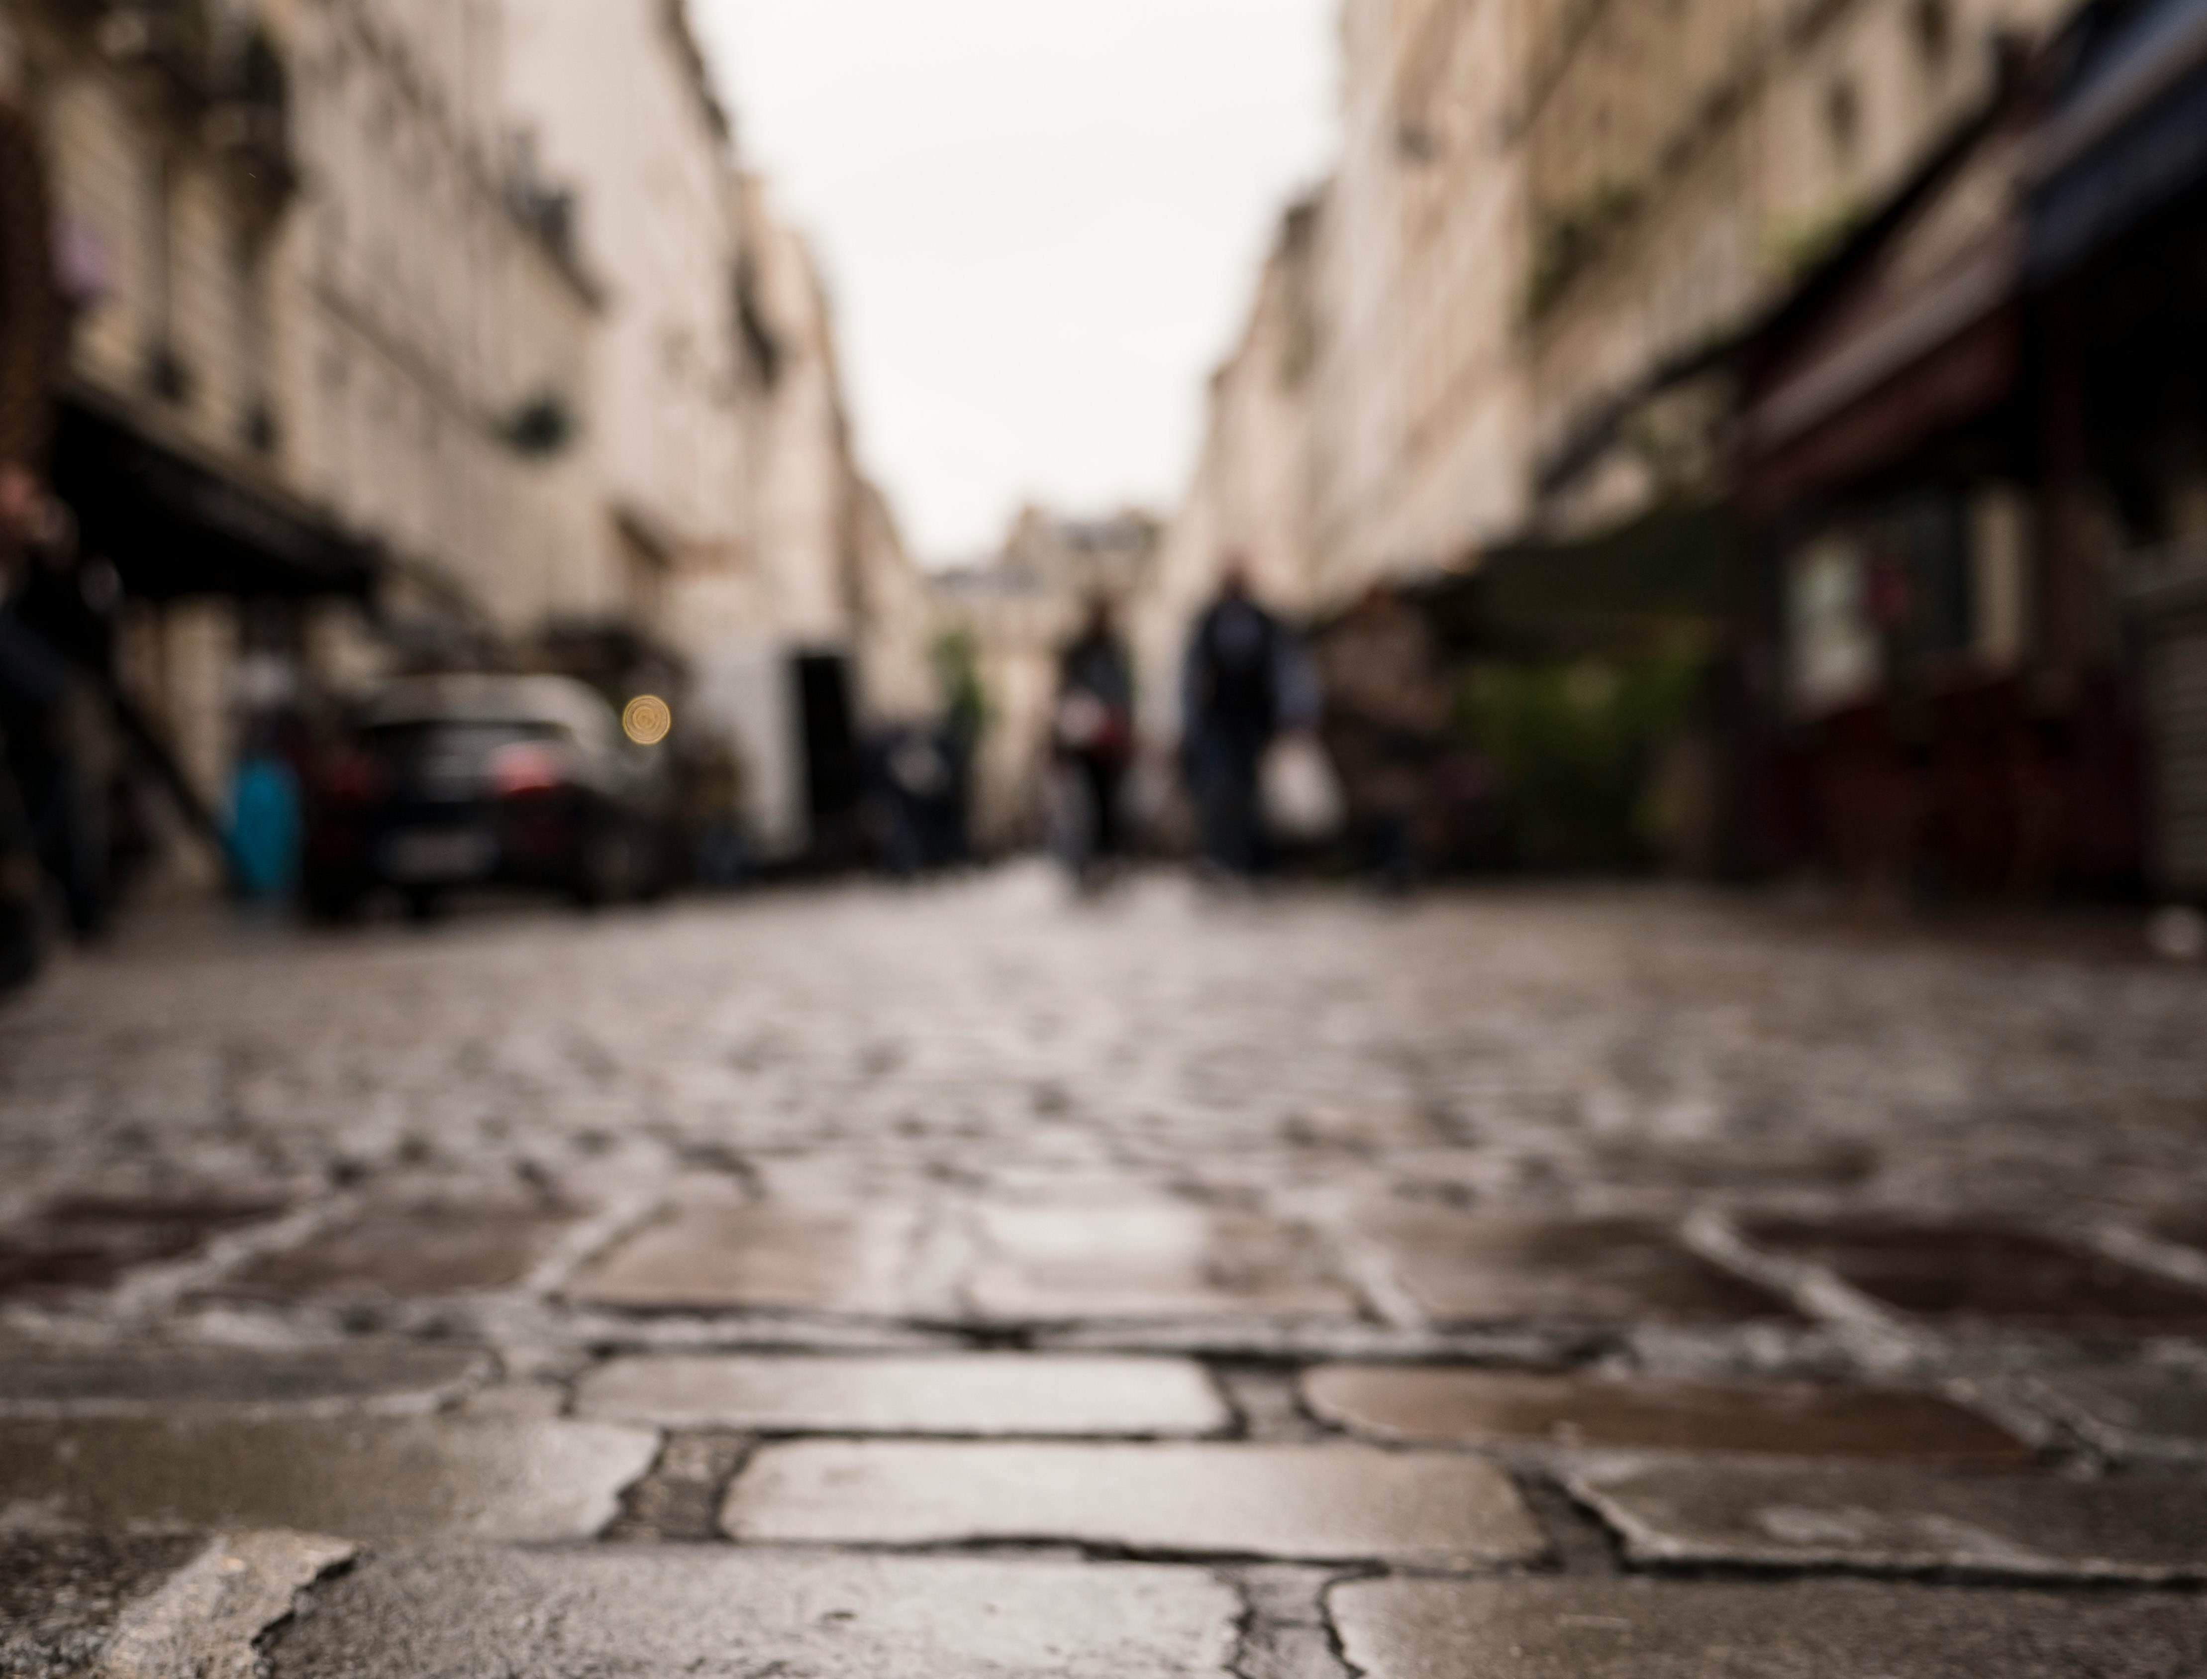
[[819,247],[867,468],[931,563],[1026,499],[1170,510],[1287,199],[1337,0],[693,0]]

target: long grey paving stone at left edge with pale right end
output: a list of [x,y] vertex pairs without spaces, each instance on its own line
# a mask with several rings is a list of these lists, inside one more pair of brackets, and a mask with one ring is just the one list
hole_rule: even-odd
[[0,1520],[294,1527],[344,1538],[585,1538],[658,1436],[448,1416],[0,1421]]

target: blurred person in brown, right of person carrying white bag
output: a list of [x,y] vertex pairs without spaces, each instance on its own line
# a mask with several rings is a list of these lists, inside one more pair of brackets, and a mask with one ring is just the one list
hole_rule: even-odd
[[1348,801],[1362,867],[1382,887],[1417,880],[1417,819],[1448,695],[1426,620],[1375,582],[1326,635],[1322,737]]

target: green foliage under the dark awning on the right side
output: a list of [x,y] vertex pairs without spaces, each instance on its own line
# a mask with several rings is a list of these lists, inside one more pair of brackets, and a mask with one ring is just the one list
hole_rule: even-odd
[[1459,673],[1450,735],[1492,766],[1521,863],[1624,867],[1649,856],[1649,779],[1691,724],[1706,673],[1693,638],[1635,657],[1494,660]]

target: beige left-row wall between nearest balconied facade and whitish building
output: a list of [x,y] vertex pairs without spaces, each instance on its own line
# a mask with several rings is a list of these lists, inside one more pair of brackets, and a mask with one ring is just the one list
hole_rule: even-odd
[[[598,300],[530,194],[497,0],[296,0],[307,203],[280,260],[298,481],[516,638],[607,593]],[[521,443],[532,410],[565,437]],[[554,426],[558,430],[558,426]]]

